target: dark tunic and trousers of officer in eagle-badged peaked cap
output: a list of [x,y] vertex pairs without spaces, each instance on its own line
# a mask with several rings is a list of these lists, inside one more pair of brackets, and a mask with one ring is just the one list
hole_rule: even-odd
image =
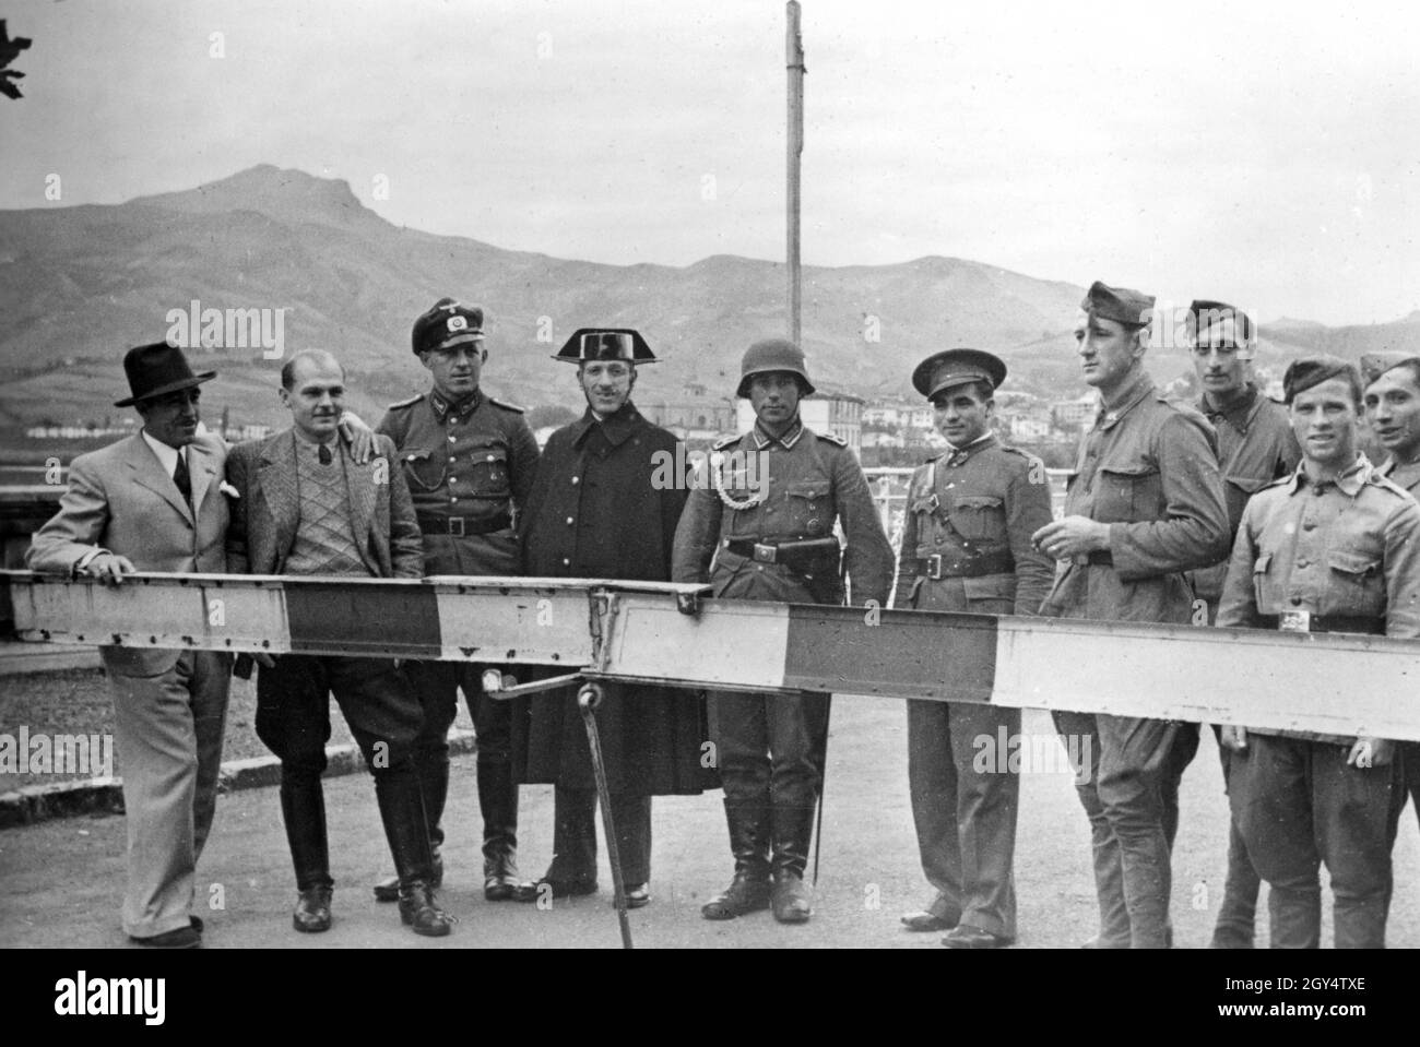
[[[521,573],[514,532],[537,475],[538,448],[523,410],[476,390],[452,403],[439,390],[390,404],[376,433],[393,438],[425,543],[425,575]],[[479,733],[479,804],[484,855],[517,846],[517,786],[511,763],[511,708],[483,694],[483,665],[416,661],[409,675],[425,708],[416,759],[430,838],[443,841],[449,789],[449,728],[463,688]]]

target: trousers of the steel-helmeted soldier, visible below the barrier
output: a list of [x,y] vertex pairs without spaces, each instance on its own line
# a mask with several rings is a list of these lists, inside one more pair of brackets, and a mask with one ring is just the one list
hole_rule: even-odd
[[707,714],[726,800],[765,809],[818,803],[828,695],[709,691]]

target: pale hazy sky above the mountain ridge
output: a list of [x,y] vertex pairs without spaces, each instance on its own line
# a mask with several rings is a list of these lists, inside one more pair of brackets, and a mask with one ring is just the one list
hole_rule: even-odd
[[[1264,319],[1420,308],[1420,6],[1358,7],[805,0],[804,260],[954,255]],[[780,0],[6,17],[36,43],[0,98],[0,209],[267,162],[500,247],[784,257]]]

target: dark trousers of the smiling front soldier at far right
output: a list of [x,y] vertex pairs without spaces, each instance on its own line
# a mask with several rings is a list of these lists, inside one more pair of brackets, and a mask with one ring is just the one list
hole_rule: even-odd
[[1402,772],[1352,768],[1348,745],[1248,733],[1230,756],[1228,800],[1252,864],[1268,882],[1274,949],[1321,943],[1326,864],[1338,949],[1386,943],[1390,843]]

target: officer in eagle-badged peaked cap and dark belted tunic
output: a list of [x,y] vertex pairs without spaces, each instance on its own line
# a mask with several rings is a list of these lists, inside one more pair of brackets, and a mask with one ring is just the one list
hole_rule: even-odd
[[[413,352],[429,370],[427,393],[390,404],[381,433],[392,437],[403,462],[423,532],[426,575],[517,576],[521,573],[515,515],[527,504],[537,472],[537,440],[523,409],[480,387],[488,350],[483,309],[440,298],[415,321]],[[435,872],[443,875],[439,847],[449,794],[449,728],[459,689],[479,733],[479,807],[483,813],[483,892],[507,901],[517,878],[518,792],[510,753],[511,711],[483,694],[486,667],[450,661],[410,663],[425,708],[415,743],[425,793]],[[393,901],[398,885],[375,887]]]

